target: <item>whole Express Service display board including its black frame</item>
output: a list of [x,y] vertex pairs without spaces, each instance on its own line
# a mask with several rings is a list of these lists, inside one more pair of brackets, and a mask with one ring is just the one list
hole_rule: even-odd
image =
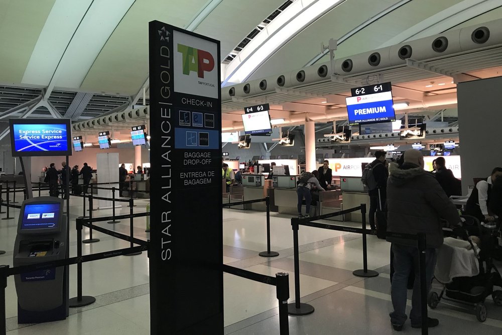
[[70,156],[70,125],[69,119],[9,120],[12,155]]

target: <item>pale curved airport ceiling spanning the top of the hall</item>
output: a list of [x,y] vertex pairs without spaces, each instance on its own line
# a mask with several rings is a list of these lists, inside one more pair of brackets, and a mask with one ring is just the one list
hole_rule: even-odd
[[[39,95],[74,121],[141,103],[152,20],[220,40],[230,84],[329,61],[330,38],[340,58],[501,17],[502,0],[0,0],[0,117]],[[288,29],[279,34],[280,25]],[[246,58],[274,34],[280,42],[263,43],[261,60]],[[431,73],[402,86],[455,92],[447,80]],[[445,85],[426,87],[431,81]]]

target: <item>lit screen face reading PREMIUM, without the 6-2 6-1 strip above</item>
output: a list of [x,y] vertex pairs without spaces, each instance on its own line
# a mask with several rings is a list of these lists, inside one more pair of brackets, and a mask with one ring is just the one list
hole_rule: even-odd
[[345,98],[351,125],[395,121],[392,92],[381,92]]

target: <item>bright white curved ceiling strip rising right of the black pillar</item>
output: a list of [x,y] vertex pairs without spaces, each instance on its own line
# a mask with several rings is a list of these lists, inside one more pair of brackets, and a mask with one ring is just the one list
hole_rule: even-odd
[[272,54],[293,37],[345,0],[303,0],[294,2],[249,42],[229,64],[224,66],[227,82],[243,82]]

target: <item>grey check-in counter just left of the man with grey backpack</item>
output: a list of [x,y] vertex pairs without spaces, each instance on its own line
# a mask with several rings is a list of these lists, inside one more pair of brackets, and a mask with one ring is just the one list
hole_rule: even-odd
[[[361,177],[340,177],[340,186],[342,190],[343,209],[350,209],[366,204],[366,222],[369,222],[369,195],[364,190],[361,183]],[[345,221],[362,222],[361,212],[352,212],[345,214]]]

